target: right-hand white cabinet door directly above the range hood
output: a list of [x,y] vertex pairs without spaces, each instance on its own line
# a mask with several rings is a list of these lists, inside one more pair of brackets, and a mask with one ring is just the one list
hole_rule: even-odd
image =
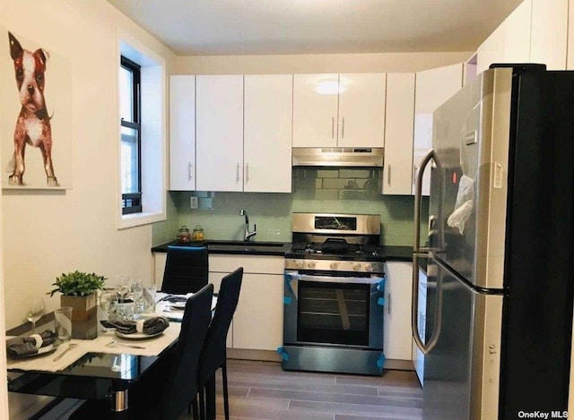
[[380,148],[385,143],[386,73],[339,76],[339,147]]

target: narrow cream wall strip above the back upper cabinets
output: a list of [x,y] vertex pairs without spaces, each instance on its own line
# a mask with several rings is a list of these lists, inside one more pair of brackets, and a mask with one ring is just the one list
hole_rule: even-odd
[[465,62],[473,52],[181,56],[174,74],[401,73]]

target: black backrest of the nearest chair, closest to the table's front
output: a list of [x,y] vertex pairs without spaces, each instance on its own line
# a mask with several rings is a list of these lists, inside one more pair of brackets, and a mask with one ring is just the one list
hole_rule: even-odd
[[176,420],[197,392],[197,364],[212,319],[213,284],[187,299],[178,345],[163,389],[161,418]]

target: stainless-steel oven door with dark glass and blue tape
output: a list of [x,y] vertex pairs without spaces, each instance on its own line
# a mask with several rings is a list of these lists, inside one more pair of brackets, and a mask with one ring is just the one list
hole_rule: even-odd
[[283,343],[382,349],[384,282],[285,271]]

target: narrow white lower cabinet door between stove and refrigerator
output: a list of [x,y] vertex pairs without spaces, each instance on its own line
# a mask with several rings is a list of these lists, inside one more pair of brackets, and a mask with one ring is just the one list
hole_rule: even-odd
[[413,297],[413,264],[388,261],[385,264],[385,335],[387,359],[412,360],[411,300]]

